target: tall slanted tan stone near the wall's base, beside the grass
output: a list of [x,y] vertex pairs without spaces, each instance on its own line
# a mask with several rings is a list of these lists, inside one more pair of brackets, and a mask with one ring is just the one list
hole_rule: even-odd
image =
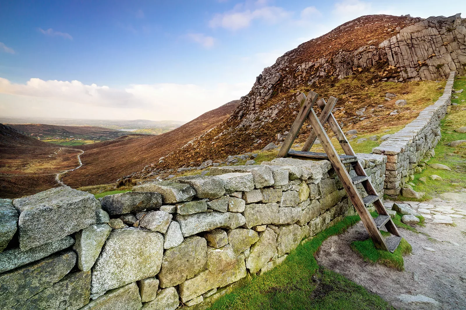
[[259,240],[251,247],[251,252],[246,259],[246,267],[249,272],[259,271],[277,254],[275,238],[274,231],[268,227],[265,231],[259,233]]

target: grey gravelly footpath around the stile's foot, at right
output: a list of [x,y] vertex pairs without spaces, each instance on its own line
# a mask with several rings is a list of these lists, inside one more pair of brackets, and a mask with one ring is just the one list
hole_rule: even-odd
[[[417,202],[410,204],[427,214],[425,227],[417,228],[429,236],[400,229],[412,246],[412,255],[404,256],[404,271],[363,262],[351,249],[352,241],[369,237],[362,222],[343,235],[329,237],[316,254],[318,263],[397,309],[466,309],[466,191],[445,193],[441,198],[419,206]],[[451,216],[453,224],[435,221],[434,216],[439,215]]]

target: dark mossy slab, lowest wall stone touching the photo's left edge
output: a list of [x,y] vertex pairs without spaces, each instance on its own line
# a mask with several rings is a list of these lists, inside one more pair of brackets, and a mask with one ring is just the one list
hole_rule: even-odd
[[2,309],[23,303],[60,281],[75,266],[73,251],[50,256],[40,262],[0,275]]

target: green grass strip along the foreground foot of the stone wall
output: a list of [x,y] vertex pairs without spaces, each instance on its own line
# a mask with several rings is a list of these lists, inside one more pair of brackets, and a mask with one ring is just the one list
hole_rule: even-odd
[[343,233],[360,220],[348,216],[299,245],[273,270],[222,296],[211,310],[394,309],[381,297],[343,276],[319,268],[314,253],[329,236]]

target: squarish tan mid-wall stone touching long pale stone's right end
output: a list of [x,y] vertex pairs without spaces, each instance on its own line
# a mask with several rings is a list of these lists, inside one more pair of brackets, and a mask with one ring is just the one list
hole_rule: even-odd
[[246,227],[251,228],[262,224],[278,224],[280,222],[278,208],[278,204],[275,202],[247,204],[244,209]]

